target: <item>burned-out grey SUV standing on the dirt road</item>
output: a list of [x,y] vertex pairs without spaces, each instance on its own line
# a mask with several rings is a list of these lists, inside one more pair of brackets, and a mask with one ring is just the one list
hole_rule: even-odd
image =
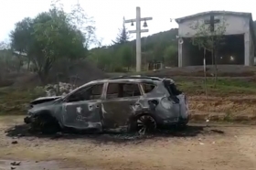
[[30,107],[24,121],[43,133],[70,128],[145,133],[189,120],[187,97],[173,80],[143,76],[94,80],[65,96],[39,98]]

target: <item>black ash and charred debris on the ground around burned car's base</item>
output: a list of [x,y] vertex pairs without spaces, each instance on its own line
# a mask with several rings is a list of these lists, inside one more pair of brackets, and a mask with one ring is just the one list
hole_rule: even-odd
[[38,137],[48,138],[51,140],[65,140],[65,139],[88,139],[100,143],[126,143],[135,142],[140,143],[142,140],[153,139],[159,137],[193,137],[198,134],[208,135],[211,133],[224,133],[219,130],[208,129],[207,125],[188,125],[186,128],[179,130],[175,128],[161,129],[155,133],[147,133],[140,135],[137,133],[78,133],[78,132],[67,132],[67,133],[54,133],[54,134],[42,134],[32,133],[29,131],[27,124],[20,124],[7,129],[5,131],[6,136],[9,137]]

